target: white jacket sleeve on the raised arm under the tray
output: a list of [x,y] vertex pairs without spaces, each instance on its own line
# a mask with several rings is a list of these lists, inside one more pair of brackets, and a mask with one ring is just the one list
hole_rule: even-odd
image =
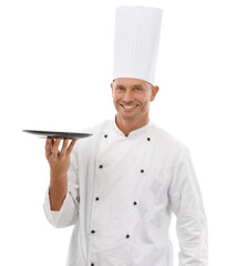
[[51,211],[49,188],[44,196],[44,214],[47,219],[56,228],[66,227],[76,223],[79,217],[80,190],[79,190],[79,167],[78,167],[78,144],[71,152],[71,164],[68,172],[68,193],[60,211]]

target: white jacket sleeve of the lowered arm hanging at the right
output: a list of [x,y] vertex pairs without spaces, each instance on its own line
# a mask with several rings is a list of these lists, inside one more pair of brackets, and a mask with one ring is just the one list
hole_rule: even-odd
[[176,215],[179,266],[207,266],[207,221],[187,147],[178,154],[174,163],[168,192],[171,207]]

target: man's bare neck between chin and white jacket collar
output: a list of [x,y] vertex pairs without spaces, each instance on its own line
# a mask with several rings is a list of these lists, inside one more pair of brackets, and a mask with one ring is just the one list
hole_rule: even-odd
[[146,125],[148,121],[150,121],[148,116],[138,121],[125,121],[125,120],[122,120],[120,115],[116,115],[115,117],[115,123],[117,127],[124,133],[125,136],[129,136],[129,134],[132,131],[138,130],[140,127]]

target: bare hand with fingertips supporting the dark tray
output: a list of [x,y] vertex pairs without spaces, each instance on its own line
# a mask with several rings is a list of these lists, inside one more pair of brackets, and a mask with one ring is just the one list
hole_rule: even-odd
[[55,141],[50,137],[45,142],[45,157],[50,164],[51,177],[61,178],[66,175],[71,163],[70,154],[75,144],[75,140],[72,140],[69,147],[69,139],[64,139],[62,149],[59,151],[61,139],[56,137]]

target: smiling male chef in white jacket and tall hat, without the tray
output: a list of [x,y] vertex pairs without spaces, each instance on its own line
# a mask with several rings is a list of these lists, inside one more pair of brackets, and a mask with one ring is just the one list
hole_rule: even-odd
[[[73,225],[68,266],[207,266],[207,222],[185,144],[150,120],[162,10],[117,7],[111,82],[116,114],[79,141],[47,140],[48,221]],[[88,132],[88,131],[85,131]],[[76,142],[76,143],[75,143]]]

